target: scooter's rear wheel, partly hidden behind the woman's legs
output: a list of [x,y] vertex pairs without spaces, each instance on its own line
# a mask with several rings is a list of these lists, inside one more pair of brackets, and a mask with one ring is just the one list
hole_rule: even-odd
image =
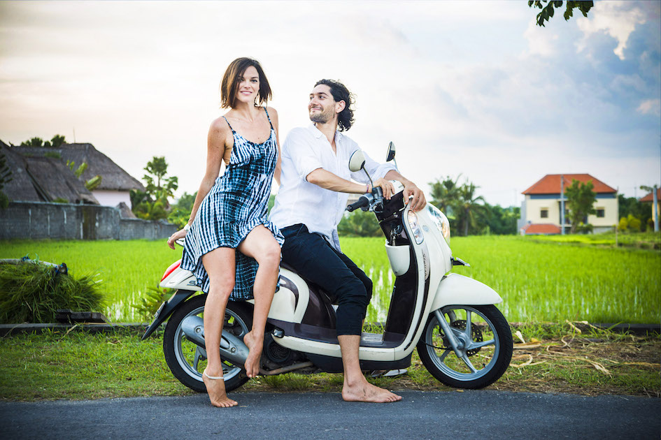
[[[163,335],[163,352],[170,371],[181,383],[198,393],[206,393],[202,381],[202,372],[206,368],[206,350],[187,339],[182,322],[189,316],[204,318],[204,302],[206,295],[197,295],[184,302],[170,317]],[[243,303],[229,301],[222,331],[243,337],[252,326],[252,310]],[[243,365],[233,365],[223,360],[222,376],[225,378],[227,392],[248,381],[242,368]]]

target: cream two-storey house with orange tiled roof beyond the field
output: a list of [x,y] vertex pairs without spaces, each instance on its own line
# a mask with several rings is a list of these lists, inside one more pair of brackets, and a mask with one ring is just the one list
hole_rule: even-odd
[[[519,230],[522,235],[560,234],[560,197],[571,186],[571,182],[592,181],[597,193],[595,214],[590,214],[583,223],[590,223],[595,233],[613,230],[618,223],[618,191],[596,177],[585,174],[547,174],[523,191],[525,200],[521,205]],[[562,186],[562,188],[561,188]],[[564,194],[564,232],[569,232],[567,195]]]

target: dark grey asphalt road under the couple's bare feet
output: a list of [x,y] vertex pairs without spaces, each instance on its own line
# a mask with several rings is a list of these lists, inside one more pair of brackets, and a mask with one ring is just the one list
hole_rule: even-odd
[[399,392],[394,404],[339,394],[232,393],[0,402],[2,439],[659,439],[661,399],[497,391]]

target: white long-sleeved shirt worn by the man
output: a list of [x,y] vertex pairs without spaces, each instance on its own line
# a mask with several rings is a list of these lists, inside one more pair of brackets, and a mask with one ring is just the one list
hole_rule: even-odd
[[[280,189],[269,219],[278,228],[303,223],[311,233],[326,237],[339,251],[337,225],[344,214],[348,193],[323,189],[306,178],[314,170],[323,168],[347,180],[367,184],[369,179],[363,170],[356,173],[349,170],[351,154],[360,149],[355,141],[336,131],[335,147],[336,154],[326,136],[314,124],[290,131],[280,153]],[[365,169],[376,180],[385,177],[395,167],[377,163],[365,154]]]

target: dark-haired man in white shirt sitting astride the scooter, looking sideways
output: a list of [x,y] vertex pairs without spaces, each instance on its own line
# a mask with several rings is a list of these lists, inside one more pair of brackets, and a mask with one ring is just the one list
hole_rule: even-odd
[[[360,370],[360,334],[372,283],[341,253],[337,234],[347,193],[371,191],[365,173],[351,173],[348,168],[350,155],[358,149],[357,143],[342,133],[353,124],[352,105],[353,95],[340,82],[317,82],[308,103],[313,125],[293,129],[280,153],[280,189],[271,221],[285,236],[283,262],[337,300],[336,330],[344,368],[342,398],[354,402],[395,402],[401,397],[371,385]],[[367,156],[366,159],[365,168],[375,179],[374,186],[381,186],[386,198],[394,190],[388,180],[399,180],[404,184],[404,199],[412,196],[412,209],[425,206],[422,191],[393,166],[378,164]]]

